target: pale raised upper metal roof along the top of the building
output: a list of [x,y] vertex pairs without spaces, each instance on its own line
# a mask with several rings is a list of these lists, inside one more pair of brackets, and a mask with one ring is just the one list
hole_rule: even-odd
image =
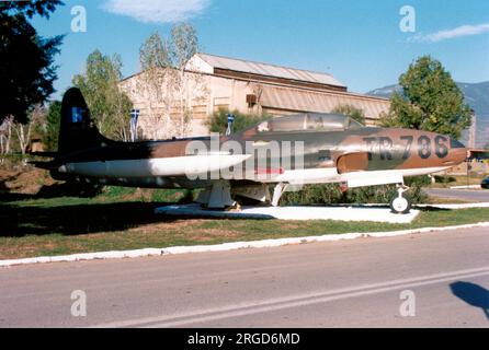
[[208,54],[196,54],[196,55],[213,68],[346,88],[346,85],[344,85],[343,83],[338,81],[334,77],[328,73],[320,73],[320,72],[281,67],[269,63],[247,61],[247,60],[227,58]]

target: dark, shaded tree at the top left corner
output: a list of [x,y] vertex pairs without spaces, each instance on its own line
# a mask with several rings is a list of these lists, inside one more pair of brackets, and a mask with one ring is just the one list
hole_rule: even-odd
[[49,18],[59,0],[0,2],[0,122],[11,116],[26,122],[36,104],[54,92],[54,57],[62,36],[43,38],[29,23],[35,14]]

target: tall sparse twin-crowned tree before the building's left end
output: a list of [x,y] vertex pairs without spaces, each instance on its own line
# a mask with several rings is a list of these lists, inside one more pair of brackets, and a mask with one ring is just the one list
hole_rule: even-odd
[[186,23],[175,24],[168,39],[153,33],[143,44],[139,58],[144,73],[137,90],[146,102],[152,138],[189,132],[192,102],[207,94],[202,77],[185,70],[197,49],[196,31]]

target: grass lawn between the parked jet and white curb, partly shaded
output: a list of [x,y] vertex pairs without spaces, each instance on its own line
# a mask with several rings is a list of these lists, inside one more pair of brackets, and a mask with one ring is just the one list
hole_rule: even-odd
[[3,196],[0,259],[162,248],[278,237],[380,232],[489,221],[489,209],[423,209],[411,224],[339,221],[203,220],[155,215],[184,194],[109,191],[95,198]]

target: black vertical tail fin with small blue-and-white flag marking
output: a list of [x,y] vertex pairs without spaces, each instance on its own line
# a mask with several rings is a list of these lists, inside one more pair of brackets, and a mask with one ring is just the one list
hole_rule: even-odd
[[106,140],[93,125],[87,103],[77,88],[62,97],[58,153],[68,154],[83,149],[101,147]]

